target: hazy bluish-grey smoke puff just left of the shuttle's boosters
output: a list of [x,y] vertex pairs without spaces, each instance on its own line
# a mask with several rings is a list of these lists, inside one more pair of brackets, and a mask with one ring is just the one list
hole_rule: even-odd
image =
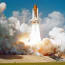
[[31,13],[27,9],[23,9],[21,12],[13,11],[13,16],[20,20],[20,23],[30,23]]

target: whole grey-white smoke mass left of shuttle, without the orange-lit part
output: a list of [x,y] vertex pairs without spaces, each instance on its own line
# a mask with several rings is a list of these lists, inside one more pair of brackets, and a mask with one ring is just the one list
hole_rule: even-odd
[[[1,15],[0,17],[0,49],[10,49],[14,42],[16,42],[16,36],[19,33],[29,31],[30,27],[27,21],[30,20],[30,13],[28,10],[20,12],[14,12],[12,17],[6,19]],[[4,45],[5,44],[5,45]],[[4,46],[3,46],[4,45]]]

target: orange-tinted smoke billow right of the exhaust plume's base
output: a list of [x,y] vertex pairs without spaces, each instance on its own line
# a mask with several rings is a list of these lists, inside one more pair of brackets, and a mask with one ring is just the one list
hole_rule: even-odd
[[41,41],[40,48],[38,49],[38,52],[42,55],[50,55],[55,54],[55,46],[51,42],[50,38],[44,38]]

